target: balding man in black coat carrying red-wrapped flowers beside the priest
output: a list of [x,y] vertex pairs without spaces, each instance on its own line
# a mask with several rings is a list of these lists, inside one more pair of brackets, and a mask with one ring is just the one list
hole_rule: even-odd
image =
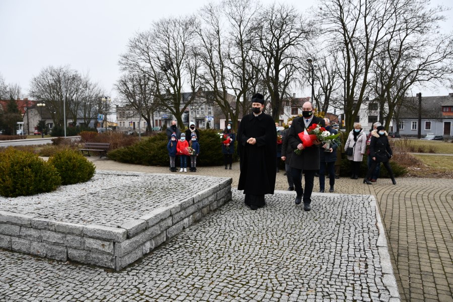
[[[301,150],[300,155],[293,154],[289,166],[291,167],[292,180],[294,189],[297,193],[295,204],[300,204],[304,200],[304,210],[311,210],[312,192],[315,179],[315,172],[319,170],[319,147],[321,142],[315,140],[314,145],[305,147],[300,140],[298,134],[304,132],[306,128],[312,124],[318,124],[324,127],[326,124],[322,118],[314,116],[313,104],[305,102],[302,106],[301,117],[295,118],[292,121],[292,126],[289,130],[288,143],[293,150]],[[301,173],[304,170],[305,175],[305,190],[302,189]]]

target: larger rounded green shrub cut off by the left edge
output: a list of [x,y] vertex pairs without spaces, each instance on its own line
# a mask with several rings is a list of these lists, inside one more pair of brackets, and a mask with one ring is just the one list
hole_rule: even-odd
[[28,196],[54,191],[61,183],[57,170],[29,152],[7,148],[0,153],[0,195]]

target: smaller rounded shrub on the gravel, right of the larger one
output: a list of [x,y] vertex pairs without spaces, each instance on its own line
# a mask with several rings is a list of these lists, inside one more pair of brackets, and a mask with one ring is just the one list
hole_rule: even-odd
[[93,177],[96,170],[92,162],[82,154],[70,149],[51,156],[49,164],[58,171],[63,185],[87,182]]

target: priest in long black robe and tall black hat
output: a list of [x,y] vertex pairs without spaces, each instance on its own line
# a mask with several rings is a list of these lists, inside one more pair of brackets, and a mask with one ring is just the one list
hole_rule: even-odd
[[264,97],[252,97],[252,113],[241,120],[238,129],[238,150],[241,174],[238,190],[244,190],[245,204],[252,210],[264,206],[264,195],[274,194],[275,143],[277,130],[272,117],[263,112]]

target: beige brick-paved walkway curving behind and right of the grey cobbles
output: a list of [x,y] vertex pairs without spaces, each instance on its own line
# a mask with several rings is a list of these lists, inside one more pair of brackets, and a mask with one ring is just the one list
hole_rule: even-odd
[[[170,173],[168,167],[146,167],[91,158],[99,170]],[[187,172],[189,173],[189,172]],[[179,174],[179,172],[178,172]],[[233,170],[198,168],[199,175],[232,177],[238,186],[239,163]],[[451,179],[336,180],[335,193],[370,194],[378,200],[402,301],[453,302],[453,187]],[[315,192],[317,187],[315,178]],[[287,189],[277,174],[277,190]]]

